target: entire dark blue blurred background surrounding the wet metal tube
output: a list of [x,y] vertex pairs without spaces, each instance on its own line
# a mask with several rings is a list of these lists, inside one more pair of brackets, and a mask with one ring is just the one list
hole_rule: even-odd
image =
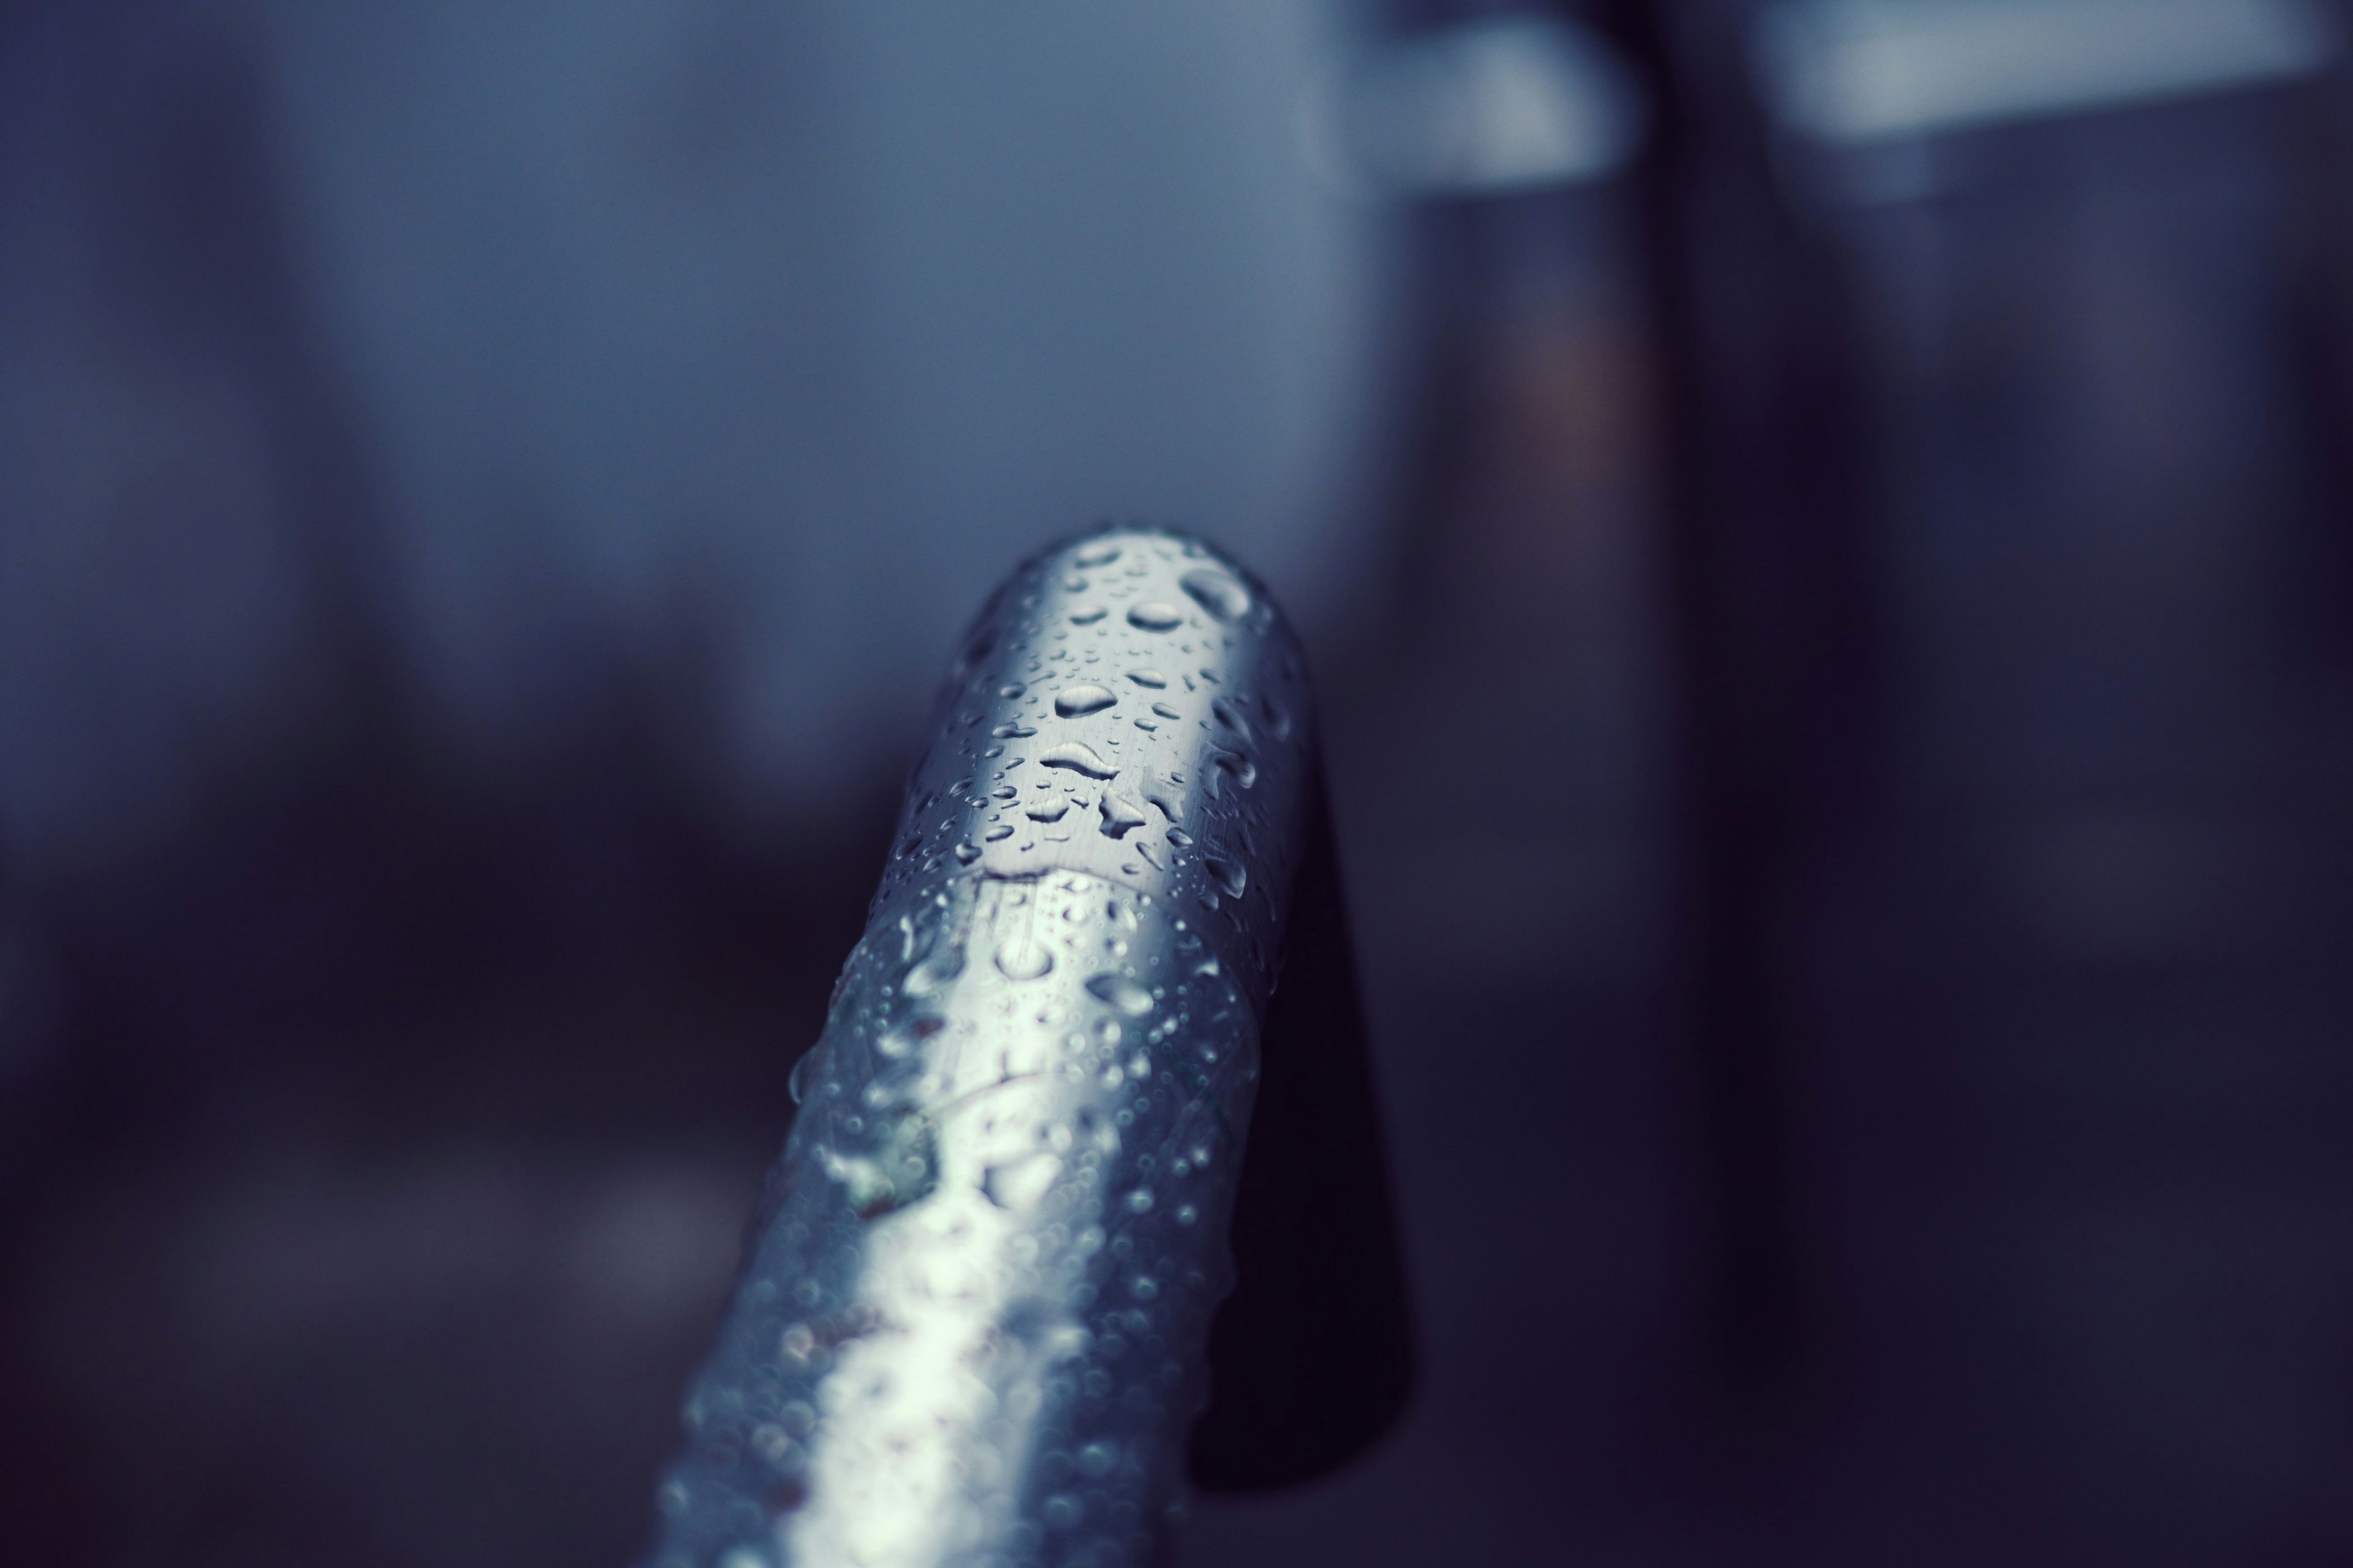
[[1419,1399],[1186,1563],[2353,1561],[2353,14],[0,5],[0,1519],[626,1563],[962,621],[1325,701]]

